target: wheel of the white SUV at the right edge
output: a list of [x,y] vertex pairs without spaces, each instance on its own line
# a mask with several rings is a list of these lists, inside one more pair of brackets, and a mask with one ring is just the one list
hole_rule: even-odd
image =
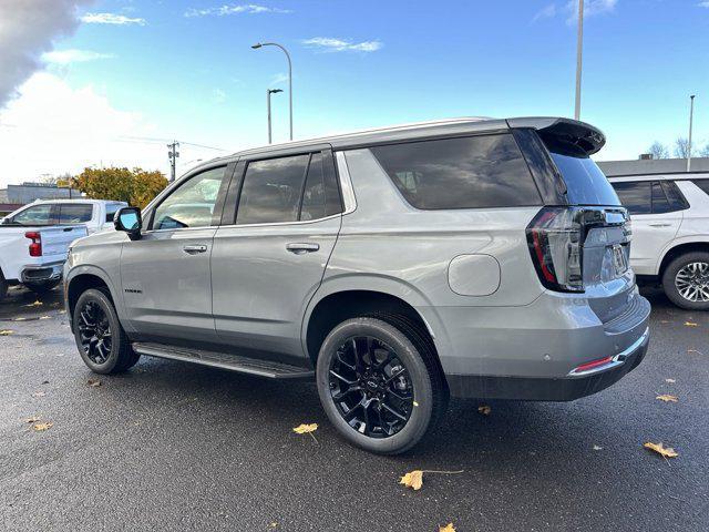
[[662,274],[662,288],[680,308],[709,310],[709,252],[691,252],[675,258]]

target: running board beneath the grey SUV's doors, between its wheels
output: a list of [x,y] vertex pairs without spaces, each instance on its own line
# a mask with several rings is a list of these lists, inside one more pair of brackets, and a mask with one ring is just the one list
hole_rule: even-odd
[[203,351],[165,346],[163,344],[133,344],[135,352],[148,357],[167,358],[183,362],[199,364],[213,368],[228,369],[239,374],[266,377],[267,379],[308,379],[315,376],[311,369],[290,366],[288,364],[239,357],[225,352]]

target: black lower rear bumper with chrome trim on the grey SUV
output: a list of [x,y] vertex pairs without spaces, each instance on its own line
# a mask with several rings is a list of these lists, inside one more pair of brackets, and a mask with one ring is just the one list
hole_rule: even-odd
[[572,401],[608,388],[633,371],[645,358],[649,338],[649,330],[646,329],[635,344],[613,357],[607,365],[559,379],[449,375],[448,383],[454,397]]

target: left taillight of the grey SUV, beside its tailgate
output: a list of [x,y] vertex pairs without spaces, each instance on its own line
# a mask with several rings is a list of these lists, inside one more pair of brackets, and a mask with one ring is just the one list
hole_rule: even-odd
[[544,207],[527,226],[532,262],[551,290],[584,291],[583,217],[575,207]]

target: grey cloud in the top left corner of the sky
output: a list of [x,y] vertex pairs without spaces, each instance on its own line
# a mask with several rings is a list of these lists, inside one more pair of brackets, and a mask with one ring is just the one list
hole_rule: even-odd
[[0,109],[33,72],[53,42],[70,35],[79,25],[76,8],[91,0],[0,1]]

